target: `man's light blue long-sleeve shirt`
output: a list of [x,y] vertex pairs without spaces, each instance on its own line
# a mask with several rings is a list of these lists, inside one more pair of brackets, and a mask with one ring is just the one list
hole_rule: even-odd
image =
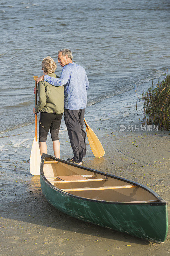
[[45,75],[44,80],[54,86],[64,85],[64,109],[86,108],[89,81],[83,67],[71,62],[64,66],[59,78]]

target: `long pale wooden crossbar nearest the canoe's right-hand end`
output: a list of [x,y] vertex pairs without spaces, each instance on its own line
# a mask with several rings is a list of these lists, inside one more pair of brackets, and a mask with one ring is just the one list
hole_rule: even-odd
[[62,188],[61,190],[65,192],[69,191],[87,191],[87,190],[106,190],[106,189],[118,189],[118,188],[138,188],[134,185],[127,185],[127,186],[114,186],[114,187],[100,187],[100,188]]

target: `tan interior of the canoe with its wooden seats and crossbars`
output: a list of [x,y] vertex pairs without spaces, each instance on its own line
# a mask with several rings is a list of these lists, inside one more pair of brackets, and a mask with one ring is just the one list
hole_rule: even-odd
[[44,161],[44,176],[54,187],[84,198],[111,202],[160,202],[150,191],[138,185],[48,157]]

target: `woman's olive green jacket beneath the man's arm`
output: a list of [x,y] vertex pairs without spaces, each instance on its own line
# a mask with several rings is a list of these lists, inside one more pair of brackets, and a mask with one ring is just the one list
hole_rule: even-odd
[[[48,76],[58,77],[55,73]],[[47,112],[61,114],[64,112],[64,86],[53,86],[42,80],[38,84],[39,102],[35,112]]]

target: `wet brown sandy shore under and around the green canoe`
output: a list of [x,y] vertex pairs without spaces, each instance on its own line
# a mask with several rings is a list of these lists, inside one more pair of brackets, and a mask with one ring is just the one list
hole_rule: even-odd
[[[87,146],[84,166],[138,181],[169,200],[168,132],[110,130],[106,133],[100,130],[97,135],[105,156],[95,158]],[[4,179],[0,210],[1,256],[164,256],[170,253],[170,235],[164,244],[156,244],[76,220],[58,211],[43,196],[39,177],[29,174],[29,161],[22,165],[13,162],[11,168],[22,172],[23,165],[27,176],[10,177],[8,173],[0,173]]]

